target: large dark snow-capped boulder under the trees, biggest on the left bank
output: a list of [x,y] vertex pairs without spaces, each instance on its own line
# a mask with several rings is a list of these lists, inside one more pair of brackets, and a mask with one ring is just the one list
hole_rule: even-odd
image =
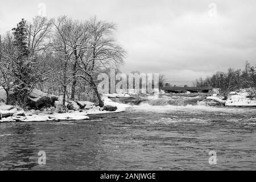
[[55,101],[58,100],[57,96],[52,94],[44,93],[40,90],[32,90],[28,95],[28,106],[31,109],[40,109],[42,107],[54,106]]

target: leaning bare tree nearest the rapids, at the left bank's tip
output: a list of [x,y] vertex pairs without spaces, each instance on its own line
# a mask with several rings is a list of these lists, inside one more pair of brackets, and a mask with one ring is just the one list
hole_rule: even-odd
[[96,17],[89,21],[90,47],[86,56],[80,57],[80,77],[92,86],[98,97],[100,107],[104,106],[97,89],[97,75],[108,67],[118,67],[123,64],[125,50],[119,46],[113,37],[115,24],[98,21]]

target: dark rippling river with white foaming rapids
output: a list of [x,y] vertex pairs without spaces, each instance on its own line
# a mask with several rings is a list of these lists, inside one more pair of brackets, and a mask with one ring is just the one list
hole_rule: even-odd
[[115,99],[131,106],[86,121],[0,123],[0,169],[256,169],[255,108],[167,97]]

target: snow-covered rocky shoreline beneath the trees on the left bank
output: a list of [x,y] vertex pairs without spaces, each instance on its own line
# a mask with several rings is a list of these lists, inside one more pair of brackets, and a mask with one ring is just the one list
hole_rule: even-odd
[[0,105],[0,122],[47,122],[47,121],[82,121],[89,119],[88,115],[93,114],[109,114],[109,113],[119,113],[125,111],[129,105],[119,104],[113,102],[108,97],[129,97],[127,94],[113,94],[104,96],[105,106],[116,107],[114,111],[103,110],[99,106],[94,106],[92,102],[80,101],[81,104],[86,103],[84,110],[69,110],[67,113],[56,113],[46,114],[43,111],[35,114],[35,110],[18,110],[16,107],[11,105]]

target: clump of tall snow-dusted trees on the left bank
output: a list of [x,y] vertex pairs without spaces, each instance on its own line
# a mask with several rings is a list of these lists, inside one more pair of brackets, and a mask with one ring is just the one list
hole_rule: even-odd
[[0,86],[7,104],[25,108],[33,89],[104,105],[97,76],[123,64],[125,49],[117,43],[114,23],[98,20],[22,19],[0,35]]

